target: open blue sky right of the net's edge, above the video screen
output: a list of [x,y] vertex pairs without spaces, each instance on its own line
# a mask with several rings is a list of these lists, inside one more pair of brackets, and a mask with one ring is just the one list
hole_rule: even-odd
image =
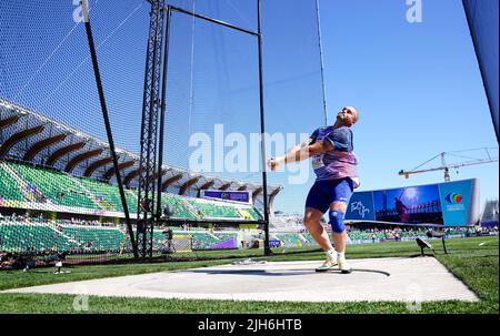
[[[441,152],[497,146],[461,1],[423,0],[423,20],[413,24],[403,0],[320,3],[330,115],[342,105],[361,113],[360,191],[442,182],[442,172],[397,173]],[[454,181],[480,179],[481,204],[498,197],[498,163],[451,172]],[[301,211],[303,200],[286,194],[279,204]]]

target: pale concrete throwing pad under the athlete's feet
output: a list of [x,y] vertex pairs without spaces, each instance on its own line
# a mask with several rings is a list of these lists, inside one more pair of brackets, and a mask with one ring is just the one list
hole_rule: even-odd
[[[267,262],[7,291],[268,302],[430,302],[478,297],[433,257],[351,259],[354,271],[317,273],[314,262]],[[358,271],[356,271],[358,269]],[[388,276],[387,274],[390,274]]]

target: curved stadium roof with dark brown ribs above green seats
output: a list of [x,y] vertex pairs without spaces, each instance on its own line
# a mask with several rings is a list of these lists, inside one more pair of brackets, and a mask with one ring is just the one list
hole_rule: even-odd
[[[137,187],[140,156],[117,147],[119,167],[129,187]],[[0,157],[20,160],[67,173],[110,183],[116,182],[109,144],[79,130],[0,98]],[[162,165],[163,190],[249,191],[253,198],[262,194],[262,185],[236,179],[194,173],[168,164]],[[268,185],[272,198],[281,185]]]

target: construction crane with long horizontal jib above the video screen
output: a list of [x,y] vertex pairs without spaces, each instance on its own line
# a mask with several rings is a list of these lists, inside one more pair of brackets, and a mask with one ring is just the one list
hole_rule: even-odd
[[[480,151],[480,153],[481,153],[480,157],[473,157],[470,155],[466,155],[467,153],[478,152],[478,151]],[[496,156],[491,154],[493,151],[494,151]],[[447,162],[448,156],[457,156],[462,160],[467,159],[468,161],[448,163]],[[440,166],[431,167],[431,169],[422,169],[423,165],[428,164],[429,162],[431,162],[438,157],[441,157]],[[442,152],[442,153],[433,156],[432,159],[426,161],[424,163],[420,164],[419,166],[412,169],[411,171],[401,170],[399,172],[399,175],[402,175],[406,179],[409,179],[411,174],[419,174],[419,173],[427,173],[427,172],[434,172],[434,171],[444,171],[444,182],[450,182],[451,181],[450,169],[458,170],[463,166],[492,163],[492,162],[498,162],[498,147],[482,147],[482,149],[464,150],[464,151],[457,151],[457,152]]]

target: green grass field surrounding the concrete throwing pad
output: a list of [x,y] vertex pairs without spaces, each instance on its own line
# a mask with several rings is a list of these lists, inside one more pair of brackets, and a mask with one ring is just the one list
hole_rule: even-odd
[[[482,243],[482,244],[481,244]],[[433,241],[436,257],[462,279],[480,297],[478,303],[458,301],[423,303],[421,310],[410,312],[406,303],[268,303],[207,299],[154,299],[89,297],[89,309],[84,313],[304,313],[304,314],[408,314],[408,313],[499,313],[499,238],[471,237],[447,240],[448,254],[443,254],[440,241]],[[289,250],[276,251],[267,261],[322,259],[316,250],[288,254]],[[223,252],[222,252],[223,253]],[[256,251],[239,252],[241,257],[256,255]],[[414,242],[350,245],[349,258],[412,256],[419,253]],[[263,257],[261,257],[263,258]],[[69,267],[70,274],[0,272],[0,291],[42,284],[82,281],[112,276],[144,274],[162,271],[203,267],[228,264],[233,259],[171,262],[162,264],[97,265]],[[42,269],[43,271],[43,269]],[[73,309],[73,295],[0,294],[0,313],[80,313]]]

